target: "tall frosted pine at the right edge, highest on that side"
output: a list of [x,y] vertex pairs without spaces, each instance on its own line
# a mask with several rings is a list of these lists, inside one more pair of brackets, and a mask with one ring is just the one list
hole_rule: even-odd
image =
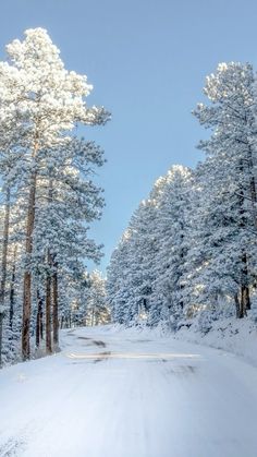
[[209,187],[207,218],[212,230],[218,230],[216,241],[209,237],[209,249],[213,250],[209,265],[212,272],[219,272],[220,282],[230,276],[237,285],[236,313],[243,317],[250,308],[252,270],[256,268],[256,99],[252,65],[219,64],[217,73],[207,79],[205,94],[211,105],[199,105],[195,115],[213,132],[199,145],[208,155],[208,184],[204,189],[206,196]]

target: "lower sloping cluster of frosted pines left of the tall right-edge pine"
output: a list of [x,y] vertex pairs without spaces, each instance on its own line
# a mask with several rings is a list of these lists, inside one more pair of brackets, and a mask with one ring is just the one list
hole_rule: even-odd
[[191,183],[189,169],[172,167],[132,216],[108,268],[114,321],[174,325],[180,318]]

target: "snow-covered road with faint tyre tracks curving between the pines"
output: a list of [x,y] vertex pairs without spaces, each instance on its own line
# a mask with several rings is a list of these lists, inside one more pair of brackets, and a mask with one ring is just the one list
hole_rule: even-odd
[[0,456],[257,456],[257,369],[236,357],[110,327],[62,347],[0,373]]

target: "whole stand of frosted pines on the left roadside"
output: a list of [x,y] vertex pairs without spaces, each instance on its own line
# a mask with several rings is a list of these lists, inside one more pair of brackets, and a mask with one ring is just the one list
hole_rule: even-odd
[[87,231],[103,206],[93,178],[105,159],[76,128],[105,124],[109,113],[87,106],[93,86],[64,68],[45,29],[26,31],[7,53],[0,62],[0,341],[12,314],[28,359],[34,334],[36,346],[44,337],[48,352],[58,348],[62,313],[86,287],[85,258],[101,256]]

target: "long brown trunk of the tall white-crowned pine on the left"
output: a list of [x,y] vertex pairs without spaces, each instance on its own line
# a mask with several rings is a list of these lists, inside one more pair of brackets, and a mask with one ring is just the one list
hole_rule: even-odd
[[30,357],[29,346],[29,326],[30,326],[30,313],[32,313],[32,273],[29,269],[29,260],[33,252],[33,230],[35,223],[35,202],[36,202],[36,184],[37,175],[34,173],[32,177],[29,196],[28,196],[28,209],[27,209],[27,227],[26,227],[26,269],[24,273],[24,286],[23,286],[23,324],[22,324],[22,353],[23,360],[28,360]]

